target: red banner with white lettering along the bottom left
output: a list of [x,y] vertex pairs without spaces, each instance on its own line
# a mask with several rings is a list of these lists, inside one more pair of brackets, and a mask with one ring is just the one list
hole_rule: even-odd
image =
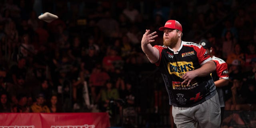
[[108,113],[1,113],[0,128],[109,128]]

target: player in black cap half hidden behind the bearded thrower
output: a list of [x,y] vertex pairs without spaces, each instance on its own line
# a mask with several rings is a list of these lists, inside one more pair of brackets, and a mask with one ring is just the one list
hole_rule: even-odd
[[216,90],[218,92],[219,101],[220,101],[220,114],[221,114],[221,122],[223,120],[224,116],[224,108],[225,108],[225,102],[224,102],[224,92],[222,90],[222,87],[227,86],[229,82],[228,78],[228,64],[222,60],[221,58],[218,58],[214,56],[215,54],[215,48],[212,46],[212,44],[206,40],[202,39],[199,42],[200,45],[203,46],[207,50],[207,52],[210,54],[212,60],[216,64],[216,70],[212,72],[211,76],[214,80],[214,84],[216,86]]

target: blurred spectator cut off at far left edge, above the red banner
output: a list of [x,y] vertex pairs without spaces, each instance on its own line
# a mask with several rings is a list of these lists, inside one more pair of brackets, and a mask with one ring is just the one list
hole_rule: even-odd
[[5,93],[2,93],[0,95],[1,103],[0,103],[0,112],[11,112],[11,106],[8,99],[8,95]]

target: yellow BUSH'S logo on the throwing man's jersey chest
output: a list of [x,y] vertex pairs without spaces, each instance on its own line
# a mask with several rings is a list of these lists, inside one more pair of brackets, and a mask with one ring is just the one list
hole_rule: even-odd
[[193,62],[186,61],[169,62],[167,67],[169,74],[174,74],[180,78],[184,73],[194,69]]

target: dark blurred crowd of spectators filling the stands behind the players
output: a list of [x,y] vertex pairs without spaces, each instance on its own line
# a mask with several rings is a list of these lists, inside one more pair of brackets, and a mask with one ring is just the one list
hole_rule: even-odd
[[[0,111],[111,111],[114,101],[121,112],[124,100],[139,112],[140,72],[156,69],[140,40],[146,29],[161,35],[168,19],[182,24],[182,40],[206,38],[228,63],[226,110],[256,109],[255,7],[254,0],[1,0]],[[44,12],[59,18],[39,20]],[[241,105],[232,106],[232,90],[241,90]]]

